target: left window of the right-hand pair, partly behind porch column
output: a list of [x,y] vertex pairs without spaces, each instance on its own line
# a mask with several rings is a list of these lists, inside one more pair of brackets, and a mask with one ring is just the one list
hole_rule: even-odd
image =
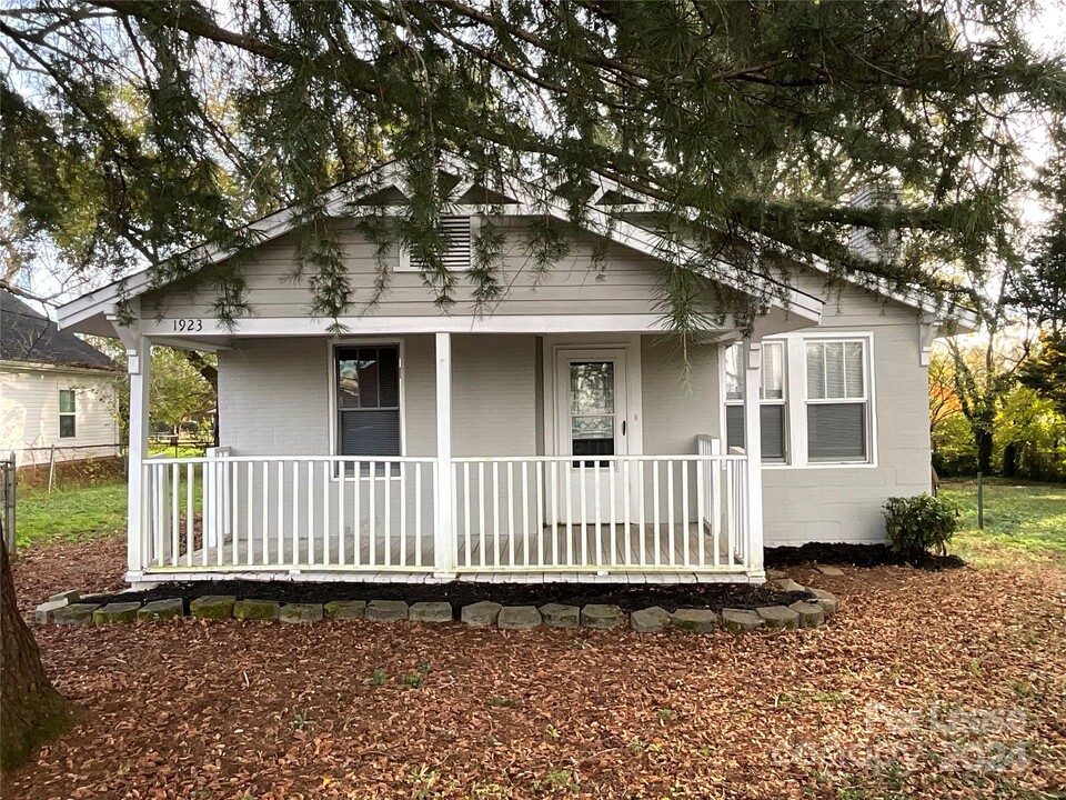
[[[726,447],[744,447],[744,370],[740,344],[725,351]],[[787,456],[785,420],[784,342],[763,342],[762,382],[758,391],[760,434],[763,461],[784,462]]]

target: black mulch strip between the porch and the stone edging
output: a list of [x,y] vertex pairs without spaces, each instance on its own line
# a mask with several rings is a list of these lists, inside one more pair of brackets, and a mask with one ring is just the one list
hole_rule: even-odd
[[[234,594],[238,598],[280,602],[325,603],[330,600],[405,600],[409,603],[446,601],[456,610],[480,600],[504,606],[543,606],[559,602],[570,606],[610,603],[624,611],[661,606],[678,608],[754,609],[760,606],[787,606],[809,599],[804,592],[783,592],[770,586],[744,583],[312,583],[289,581],[195,581],[168,583],[143,592],[135,599],[148,602],[180,597],[189,601],[205,594]],[[130,593],[101,594],[93,602],[131,600]]]

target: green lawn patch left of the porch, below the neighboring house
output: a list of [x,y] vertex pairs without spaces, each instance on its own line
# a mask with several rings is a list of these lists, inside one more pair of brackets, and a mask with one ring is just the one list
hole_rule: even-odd
[[86,541],[125,530],[125,482],[70,489],[21,489],[18,546]]

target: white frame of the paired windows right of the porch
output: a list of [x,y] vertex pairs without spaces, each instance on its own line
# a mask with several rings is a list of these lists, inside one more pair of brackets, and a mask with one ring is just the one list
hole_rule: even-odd
[[[868,330],[811,330],[782,333],[763,339],[763,343],[785,343],[785,461],[763,461],[767,470],[778,469],[876,469],[878,466],[877,437],[877,384],[874,333]],[[863,343],[866,397],[866,460],[865,461],[811,461],[807,458],[807,361],[808,341],[858,341]],[[722,392],[722,441],[726,441],[725,406],[743,404],[743,400],[726,400],[725,347],[721,349],[720,387]],[[824,402],[824,401],[815,401]],[[829,402],[837,402],[829,400]]]

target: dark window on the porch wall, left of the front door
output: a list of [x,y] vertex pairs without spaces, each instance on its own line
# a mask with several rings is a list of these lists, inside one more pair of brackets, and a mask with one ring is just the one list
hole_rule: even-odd
[[339,347],[336,451],[400,456],[400,348]]

